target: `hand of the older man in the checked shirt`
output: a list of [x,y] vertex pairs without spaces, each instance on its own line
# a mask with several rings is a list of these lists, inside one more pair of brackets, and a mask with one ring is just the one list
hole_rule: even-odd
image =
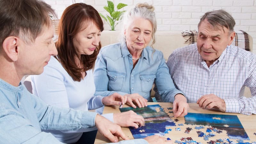
[[203,95],[201,98],[199,98],[196,101],[197,104],[199,104],[200,108],[216,108],[219,109],[222,112],[226,111],[226,103],[223,99],[220,97],[214,95],[214,94],[207,94]]

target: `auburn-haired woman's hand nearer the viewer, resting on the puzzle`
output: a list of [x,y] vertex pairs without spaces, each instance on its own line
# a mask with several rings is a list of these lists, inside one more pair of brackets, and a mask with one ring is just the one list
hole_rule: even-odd
[[145,124],[144,118],[140,115],[137,115],[132,110],[122,113],[115,113],[113,117],[114,123],[122,127],[133,126],[137,129],[139,126],[143,126]]

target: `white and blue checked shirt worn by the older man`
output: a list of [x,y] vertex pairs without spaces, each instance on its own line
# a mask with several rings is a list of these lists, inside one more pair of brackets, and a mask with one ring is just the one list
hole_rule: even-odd
[[[256,114],[256,55],[237,46],[227,46],[208,68],[196,44],[176,49],[167,62],[178,89],[189,103],[215,94],[225,100],[226,112]],[[252,97],[244,97],[249,87]]]

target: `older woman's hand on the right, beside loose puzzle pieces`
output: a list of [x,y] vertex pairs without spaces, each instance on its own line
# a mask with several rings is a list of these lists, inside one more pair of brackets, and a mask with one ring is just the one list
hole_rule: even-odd
[[173,101],[173,114],[174,117],[182,117],[188,114],[189,105],[187,103],[187,99],[182,94],[176,94],[175,100]]

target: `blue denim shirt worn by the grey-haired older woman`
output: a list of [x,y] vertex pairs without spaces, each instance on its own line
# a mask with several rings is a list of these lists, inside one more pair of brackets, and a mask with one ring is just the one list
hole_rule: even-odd
[[164,102],[173,102],[176,94],[183,94],[175,88],[162,52],[147,46],[133,68],[126,43],[111,44],[100,50],[94,68],[95,95],[138,93],[152,101],[154,81]]

